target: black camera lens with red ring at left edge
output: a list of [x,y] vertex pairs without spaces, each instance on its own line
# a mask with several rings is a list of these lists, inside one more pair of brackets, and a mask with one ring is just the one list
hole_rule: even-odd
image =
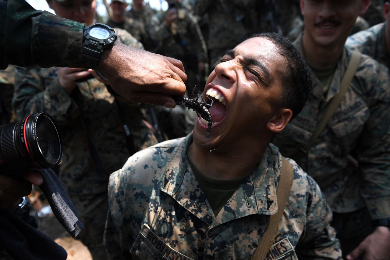
[[50,168],[61,159],[61,136],[49,115],[35,113],[0,126],[0,174]]

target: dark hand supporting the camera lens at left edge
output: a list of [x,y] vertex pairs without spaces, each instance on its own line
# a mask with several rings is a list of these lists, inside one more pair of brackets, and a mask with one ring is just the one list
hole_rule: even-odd
[[32,185],[41,185],[43,178],[39,173],[26,173],[21,178],[0,175],[0,208],[9,208],[23,196],[31,192]]

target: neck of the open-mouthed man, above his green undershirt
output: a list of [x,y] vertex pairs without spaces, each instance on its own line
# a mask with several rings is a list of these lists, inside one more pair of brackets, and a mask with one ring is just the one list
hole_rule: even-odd
[[257,146],[253,150],[243,147],[238,151],[230,146],[227,149],[216,149],[210,152],[192,142],[188,149],[188,156],[203,175],[217,180],[234,180],[253,170],[261,160],[265,149],[266,146]]

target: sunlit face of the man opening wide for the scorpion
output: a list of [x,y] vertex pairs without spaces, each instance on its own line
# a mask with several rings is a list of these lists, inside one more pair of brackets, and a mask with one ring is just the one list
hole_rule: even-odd
[[214,122],[210,137],[206,137],[208,122],[199,118],[194,142],[210,149],[229,146],[232,141],[259,141],[266,123],[281,107],[280,73],[286,66],[277,47],[263,37],[248,39],[228,51],[204,88],[206,102],[210,102],[208,97],[215,101],[209,109]]

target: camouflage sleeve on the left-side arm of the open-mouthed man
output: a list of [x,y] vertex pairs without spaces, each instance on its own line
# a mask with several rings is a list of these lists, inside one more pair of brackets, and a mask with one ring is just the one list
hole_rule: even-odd
[[131,259],[129,251],[133,240],[131,237],[126,239],[124,232],[124,212],[123,200],[125,194],[124,183],[126,183],[127,171],[126,165],[131,161],[129,158],[125,166],[112,173],[108,183],[108,215],[106,220],[104,243],[109,259]]

